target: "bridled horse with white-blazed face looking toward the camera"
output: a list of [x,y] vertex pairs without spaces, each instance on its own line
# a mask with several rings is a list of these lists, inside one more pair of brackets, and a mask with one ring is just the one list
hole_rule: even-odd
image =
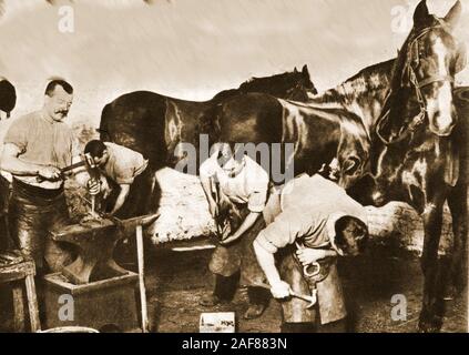
[[[421,1],[396,60],[366,68],[310,100],[357,113],[370,134],[369,173],[349,193],[378,206],[404,201],[424,217],[422,332],[442,325],[445,280],[449,288],[460,287],[466,275],[467,103],[453,98],[455,74],[466,65],[465,48],[452,36],[460,13],[459,1],[442,19]],[[438,260],[445,201],[455,234],[449,267]]]

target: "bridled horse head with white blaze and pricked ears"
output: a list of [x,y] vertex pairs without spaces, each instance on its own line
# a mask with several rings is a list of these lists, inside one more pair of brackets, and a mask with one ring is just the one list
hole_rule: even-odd
[[414,13],[414,28],[399,51],[388,100],[377,124],[386,144],[400,141],[425,122],[448,136],[457,123],[455,75],[466,67],[466,48],[453,36],[461,14],[458,0],[445,18],[430,14],[425,0]]

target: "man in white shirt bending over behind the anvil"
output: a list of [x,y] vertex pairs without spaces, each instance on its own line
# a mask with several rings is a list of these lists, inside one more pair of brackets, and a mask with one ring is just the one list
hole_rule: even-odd
[[88,142],[84,153],[90,154],[102,175],[116,185],[116,189],[112,190],[114,194],[106,199],[110,191],[105,185],[101,186],[106,180],[90,180],[89,183],[91,194],[103,192],[109,214],[129,219],[150,213],[152,209],[150,199],[145,199],[149,205],[136,203],[141,194],[153,193],[156,182],[155,175],[146,169],[149,161],[142,154],[126,146],[100,140]]

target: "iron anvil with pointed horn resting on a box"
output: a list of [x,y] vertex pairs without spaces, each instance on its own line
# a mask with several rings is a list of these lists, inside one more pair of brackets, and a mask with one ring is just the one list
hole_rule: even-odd
[[78,257],[62,270],[63,276],[74,284],[126,275],[129,271],[119,266],[114,258],[114,247],[119,240],[135,231],[137,225],[146,226],[157,219],[157,214],[143,215],[115,221],[102,219],[89,221],[85,225],[70,224],[50,231],[55,242],[67,242],[77,246]]

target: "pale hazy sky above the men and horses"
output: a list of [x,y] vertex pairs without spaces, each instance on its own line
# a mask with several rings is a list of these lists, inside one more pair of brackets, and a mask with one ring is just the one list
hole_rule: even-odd
[[[1,0],[0,0],[1,1]],[[69,3],[68,1],[57,1]],[[49,77],[77,89],[71,115],[96,122],[118,94],[147,89],[208,99],[252,75],[308,64],[320,90],[395,57],[415,0],[74,0],[74,32],[60,6],[3,0],[0,74],[19,89],[16,113],[34,109]],[[428,0],[446,14],[455,0]],[[469,0],[461,23],[469,23]],[[469,27],[459,29],[469,40]],[[402,27],[400,28],[402,29]],[[457,79],[469,84],[469,71]]]

